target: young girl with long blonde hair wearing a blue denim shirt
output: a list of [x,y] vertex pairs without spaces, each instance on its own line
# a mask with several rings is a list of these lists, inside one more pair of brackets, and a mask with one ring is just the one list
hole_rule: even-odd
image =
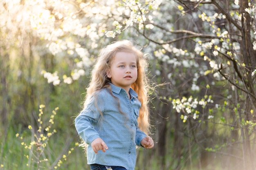
[[134,170],[136,145],[153,148],[148,132],[146,55],[131,41],[101,50],[75,127],[91,170]]

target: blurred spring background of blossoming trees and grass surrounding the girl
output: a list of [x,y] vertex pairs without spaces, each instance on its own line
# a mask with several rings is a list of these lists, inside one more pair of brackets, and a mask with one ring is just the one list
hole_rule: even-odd
[[254,0],[1,0],[0,169],[88,170],[74,128],[99,50],[149,54],[136,170],[254,170]]

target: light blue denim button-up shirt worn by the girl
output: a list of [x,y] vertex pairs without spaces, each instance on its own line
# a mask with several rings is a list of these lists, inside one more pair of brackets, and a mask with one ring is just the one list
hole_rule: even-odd
[[[101,164],[105,166],[122,166],[127,170],[134,170],[136,163],[136,145],[141,146],[141,140],[146,136],[139,129],[137,118],[141,102],[137,94],[130,88],[129,94],[120,87],[110,83],[113,97],[107,88],[103,88],[81,111],[75,119],[76,131],[87,143],[88,164]],[[119,109],[123,113],[120,113]],[[103,117],[100,116],[103,113]],[[99,150],[94,153],[91,143],[101,137],[108,146],[103,153]]]

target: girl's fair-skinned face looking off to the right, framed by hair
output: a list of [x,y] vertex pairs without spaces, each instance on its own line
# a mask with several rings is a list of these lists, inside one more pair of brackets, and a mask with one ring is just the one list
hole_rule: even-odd
[[108,72],[112,84],[129,91],[130,85],[137,80],[136,56],[132,52],[117,52]]

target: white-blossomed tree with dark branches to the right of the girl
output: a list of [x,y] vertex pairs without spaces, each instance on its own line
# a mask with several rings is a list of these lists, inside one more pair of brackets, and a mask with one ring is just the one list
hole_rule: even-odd
[[[255,167],[250,159],[251,145],[255,142],[256,106],[254,2],[176,0],[163,1],[160,9],[160,15],[145,20],[143,28],[138,24],[136,29],[157,44],[154,54],[159,71],[156,74],[172,85],[172,88],[166,87],[161,96],[171,101],[176,116],[187,122],[185,131],[184,125],[173,122],[177,127],[175,132],[191,134],[184,152],[191,155],[194,149],[191,144],[196,143],[199,150],[241,161],[234,163],[233,168]],[[148,24],[153,26],[146,28]],[[162,116],[170,117],[169,110],[162,110],[166,112]],[[163,134],[166,126],[159,126],[160,130],[164,129]],[[229,130],[216,131],[223,127]],[[228,138],[226,142],[219,141],[223,140],[222,135]],[[179,150],[176,156],[180,158],[184,154],[180,154],[184,147],[180,142],[186,137],[177,135],[175,139],[175,148]],[[205,146],[206,140],[208,146]],[[234,145],[238,151],[232,149]],[[230,157],[227,160],[230,161]],[[189,159],[192,168],[191,157]]]

